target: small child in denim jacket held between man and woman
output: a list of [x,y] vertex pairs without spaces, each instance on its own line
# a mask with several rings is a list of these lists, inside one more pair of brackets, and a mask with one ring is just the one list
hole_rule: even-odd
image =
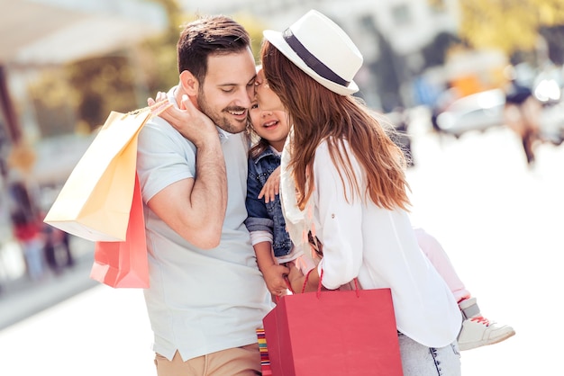
[[[264,80],[262,70],[259,70],[258,80]],[[256,142],[250,148],[246,201],[249,218],[245,224],[250,230],[251,242],[268,291],[280,296],[287,291],[286,276],[289,269],[285,263],[298,264],[298,269],[304,274],[314,267],[314,264],[308,262],[310,258],[305,257],[302,251],[298,251],[292,245],[286,230],[279,196],[264,194],[268,190],[268,185],[273,184],[272,182],[274,186],[278,186],[280,154],[290,130],[287,113],[261,111],[258,103],[252,103],[249,128]],[[276,189],[273,191],[277,192]],[[450,264],[448,255],[437,239],[423,228],[415,228],[415,235],[423,253],[447,282],[459,303],[464,318],[458,339],[460,350],[496,344],[514,336],[513,327],[499,326],[482,317],[476,298],[470,295],[464,283],[460,281]]]

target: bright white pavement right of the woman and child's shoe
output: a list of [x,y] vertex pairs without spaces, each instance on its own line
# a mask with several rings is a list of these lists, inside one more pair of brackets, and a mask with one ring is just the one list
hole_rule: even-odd
[[560,374],[564,146],[541,145],[532,171],[506,129],[414,148],[414,221],[441,240],[482,313],[517,333],[463,352],[463,374]]

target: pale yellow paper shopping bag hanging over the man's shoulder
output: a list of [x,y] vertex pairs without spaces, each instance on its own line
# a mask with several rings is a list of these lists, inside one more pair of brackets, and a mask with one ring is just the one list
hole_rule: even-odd
[[150,108],[110,113],[68,176],[45,223],[92,241],[125,240],[137,136],[150,116]]

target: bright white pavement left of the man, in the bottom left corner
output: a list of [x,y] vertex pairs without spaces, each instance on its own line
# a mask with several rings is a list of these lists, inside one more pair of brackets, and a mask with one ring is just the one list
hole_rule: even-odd
[[97,286],[0,332],[3,376],[154,376],[139,290]]

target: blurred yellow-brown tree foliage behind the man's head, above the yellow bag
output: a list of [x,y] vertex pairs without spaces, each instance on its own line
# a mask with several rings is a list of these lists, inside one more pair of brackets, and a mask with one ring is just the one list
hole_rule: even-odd
[[[44,69],[40,79],[30,85],[43,136],[95,130],[104,124],[109,112],[142,107],[148,96],[177,85],[178,35],[182,26],[197,16],[183,13],[177,0],[151,1],[161,4],[167,13],[165,31],[139,46]],[[233,18],[250,32],[258,61],[262,22],[246,13]]]

